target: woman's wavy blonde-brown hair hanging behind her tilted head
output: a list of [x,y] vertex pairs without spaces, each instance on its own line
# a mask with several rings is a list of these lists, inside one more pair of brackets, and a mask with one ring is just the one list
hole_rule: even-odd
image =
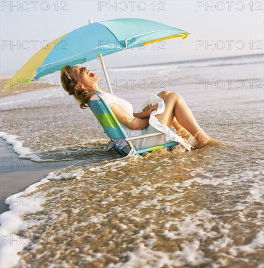
[[69,95],[73,95],[75,99],[79,102],[80,108],[85,109],[87,107],[86,103],[89,99],[89,96],[85,96],[85,94],[87,93],[86,91],[75,89],[75,86],[78,82],[69,75],[71,67],[72,66],[70,65],[65,65],[61,68],[60,81],[64,90],[67,91]]

